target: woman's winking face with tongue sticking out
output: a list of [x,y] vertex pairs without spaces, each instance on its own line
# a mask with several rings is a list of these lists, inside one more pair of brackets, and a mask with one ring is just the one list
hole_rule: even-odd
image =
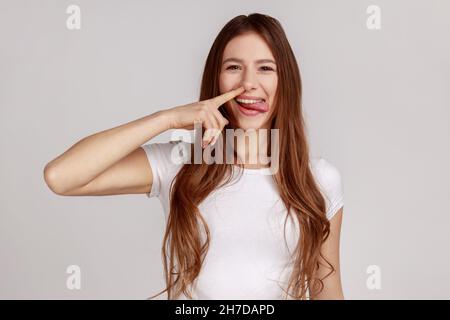
[[223,54],[219,89],[224,93],[241,86],[245,88],[241,95],[225,105],[239,128],[270,129],[267,120],[273,111],[277,83],[275,59],[261,36],[251,32],[228,42]]

